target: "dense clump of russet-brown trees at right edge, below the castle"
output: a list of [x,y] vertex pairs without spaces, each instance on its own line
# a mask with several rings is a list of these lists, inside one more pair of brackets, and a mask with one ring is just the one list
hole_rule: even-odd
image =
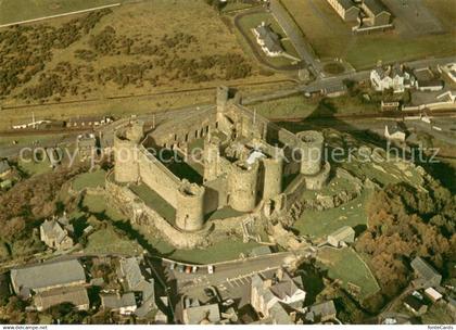
[[415,256],[431,261],[441,271],[454,262],[456,198],[436,182],[428,186],[428,191],[405,183],[388,186],[370,204],[369,229],[356,250],[370,256],[387,297],[406,287]]

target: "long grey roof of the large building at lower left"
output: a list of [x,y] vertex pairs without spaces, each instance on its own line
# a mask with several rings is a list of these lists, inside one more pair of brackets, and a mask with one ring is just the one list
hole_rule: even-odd
[[11,270],[11,282],[18,293],[22,290],[38,290],[85,282],[86,274],[77,259],[38,264]]

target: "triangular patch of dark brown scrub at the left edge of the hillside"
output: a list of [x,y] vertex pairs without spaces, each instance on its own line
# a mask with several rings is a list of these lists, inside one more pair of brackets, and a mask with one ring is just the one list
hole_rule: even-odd
[[67,48],[87,35],[111,10],[91,12],[60,27],[17,25],[0,31],[0,97],[28,82],[52,59],[52,49]]

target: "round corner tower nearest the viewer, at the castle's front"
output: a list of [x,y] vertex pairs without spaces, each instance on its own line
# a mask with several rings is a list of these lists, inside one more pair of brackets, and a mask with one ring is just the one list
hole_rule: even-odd
[[183,180],[177,191],[176,226],[194,231],[204,225],[204,187]]

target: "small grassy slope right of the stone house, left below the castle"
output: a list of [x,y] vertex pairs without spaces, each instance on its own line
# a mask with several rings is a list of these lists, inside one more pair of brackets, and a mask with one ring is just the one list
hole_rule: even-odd
[[129,254],[138,255],[142,252],[141,245],[122,237],[109,226],[89,236],[85,253],[100,254]]

